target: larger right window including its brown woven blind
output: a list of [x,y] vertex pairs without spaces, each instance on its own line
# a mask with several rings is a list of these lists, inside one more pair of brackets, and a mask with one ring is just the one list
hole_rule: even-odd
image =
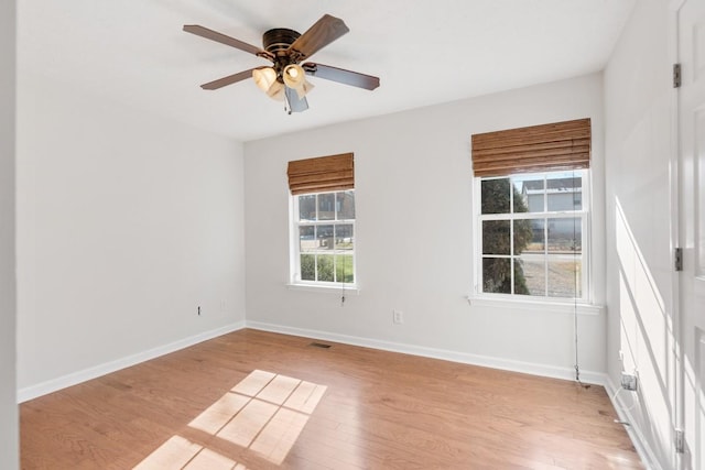
[[478,294],[588,300],[590,120],[473,135]]

